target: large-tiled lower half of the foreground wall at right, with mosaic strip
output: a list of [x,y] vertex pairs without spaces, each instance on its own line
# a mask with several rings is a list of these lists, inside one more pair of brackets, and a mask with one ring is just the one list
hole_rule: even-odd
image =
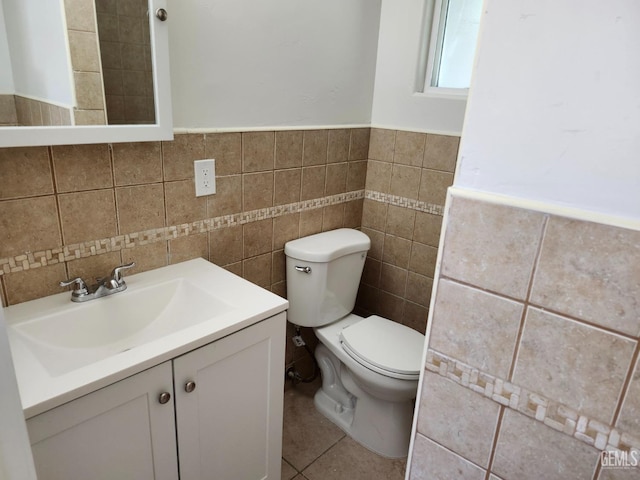
[[461,192],[410,478],[640,478],[640,231]]

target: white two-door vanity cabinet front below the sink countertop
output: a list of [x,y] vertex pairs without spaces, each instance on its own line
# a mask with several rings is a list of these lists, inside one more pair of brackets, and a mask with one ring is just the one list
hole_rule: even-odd
[[279,479],[284,339],[280,313],[28,419],[38,479]]

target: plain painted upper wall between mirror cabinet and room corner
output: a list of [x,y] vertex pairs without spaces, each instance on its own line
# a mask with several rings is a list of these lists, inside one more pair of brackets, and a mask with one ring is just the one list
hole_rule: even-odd
[[170,0],[174,127],[369,124],[380,1]]

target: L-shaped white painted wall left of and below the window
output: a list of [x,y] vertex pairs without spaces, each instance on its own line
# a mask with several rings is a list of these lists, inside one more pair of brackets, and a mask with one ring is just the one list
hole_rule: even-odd
[[415,93],[425,1],[382,0],[371,123],[460,135],[466,98]]

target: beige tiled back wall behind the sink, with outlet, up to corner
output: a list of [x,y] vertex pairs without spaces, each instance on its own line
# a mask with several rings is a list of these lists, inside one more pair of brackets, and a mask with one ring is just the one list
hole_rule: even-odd
[[[284,296],[286,241],[360,227],[368,144],[362,128],[0,149],[2,303],[200,256]],[[203,158],[217,193],[195,197]]]

